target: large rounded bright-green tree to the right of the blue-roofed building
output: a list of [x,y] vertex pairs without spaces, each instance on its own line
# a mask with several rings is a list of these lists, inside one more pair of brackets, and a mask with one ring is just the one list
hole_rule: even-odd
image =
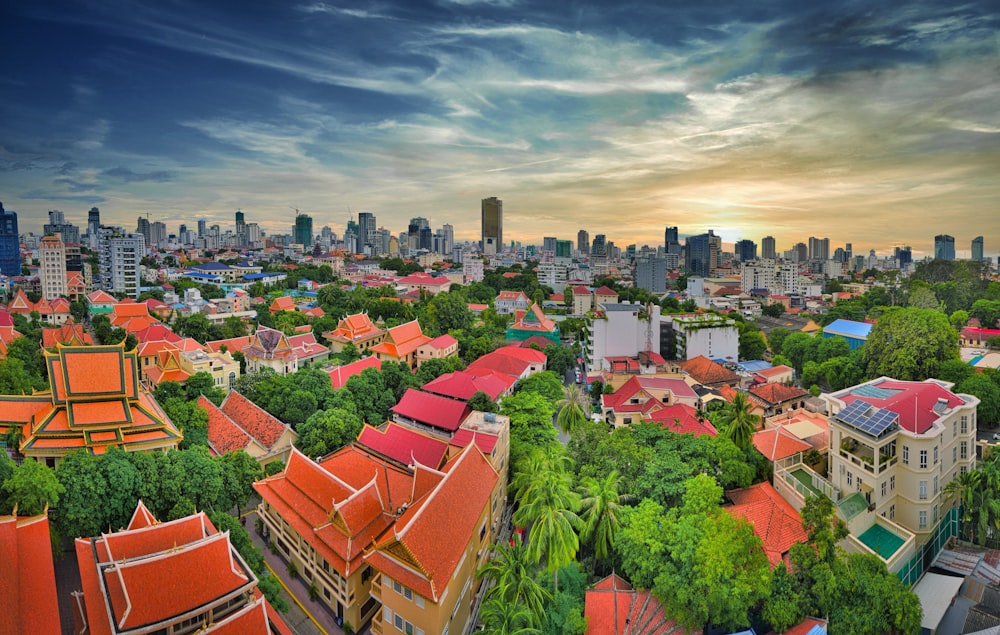
[[943,313],[926,309],[887,310],[864,346],[869,377],[923,381],[949,359],[958,359],[958,333]]

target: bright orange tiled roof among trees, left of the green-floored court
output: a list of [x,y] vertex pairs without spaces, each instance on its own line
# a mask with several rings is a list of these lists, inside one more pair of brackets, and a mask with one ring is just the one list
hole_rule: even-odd
[[724,509],[735,518],[746,518],[753,532],[764,543],[764,552],[772,567],[781,562],[792,545],[806,541],[802,517],[768,483],[731,490],[726,495],[733,505]]

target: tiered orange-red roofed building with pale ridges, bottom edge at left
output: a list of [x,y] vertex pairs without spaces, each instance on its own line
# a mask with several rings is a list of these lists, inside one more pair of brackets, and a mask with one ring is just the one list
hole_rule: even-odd
[[139,501],[126,529],[77,538],[76,559],[74,632],[292,633],[205,512],[161,523]]

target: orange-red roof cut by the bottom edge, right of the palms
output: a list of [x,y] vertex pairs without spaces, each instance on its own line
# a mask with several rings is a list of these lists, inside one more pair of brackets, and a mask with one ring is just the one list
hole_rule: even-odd
[[668,619],[649,591],[636,591],[611,574],[588,589],[584,599],[585,635],[700,635]]

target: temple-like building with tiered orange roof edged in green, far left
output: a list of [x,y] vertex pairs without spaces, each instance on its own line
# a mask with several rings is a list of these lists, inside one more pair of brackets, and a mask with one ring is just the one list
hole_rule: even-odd
[[21,454],[49,467],[64,455],[176,448],[181,433],[139,383],[139,362],[124,344],[57,345],[45,352],[49,390],[0,396],[4,427],[21,427]]

